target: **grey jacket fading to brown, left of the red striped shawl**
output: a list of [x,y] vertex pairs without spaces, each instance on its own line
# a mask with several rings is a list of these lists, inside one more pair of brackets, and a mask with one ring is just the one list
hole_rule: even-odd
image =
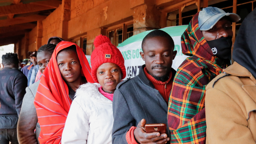
[[[40,81],[26,88],[23,98],[19,120],[17,125],[17,136],[19,144],[39,144],[38,137],[41,131],[34,106],[34,99]],[[36,133],[34,130],[36,129]]]

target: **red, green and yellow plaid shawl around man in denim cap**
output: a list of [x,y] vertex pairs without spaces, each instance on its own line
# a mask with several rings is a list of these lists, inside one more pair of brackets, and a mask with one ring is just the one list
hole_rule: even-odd
[[197,13],[181,36],[182,53],[168,104],[171,143],[205,143],[205,88],[228,61],[215,57],[198,27]]

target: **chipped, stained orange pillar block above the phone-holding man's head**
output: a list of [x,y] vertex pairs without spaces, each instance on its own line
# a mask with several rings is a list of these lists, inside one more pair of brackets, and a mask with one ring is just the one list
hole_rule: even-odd
[[151,4],[141,4],[132,8],[133,14],[133,35],[146,30],[159,29],[161,13]]

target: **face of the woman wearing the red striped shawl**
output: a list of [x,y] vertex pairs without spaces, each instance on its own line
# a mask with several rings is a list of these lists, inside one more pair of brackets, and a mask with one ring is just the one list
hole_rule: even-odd
[[59,52],[57,63],[65,81],[73,83],[81,79],[81,64],[76,52],[73,50]]

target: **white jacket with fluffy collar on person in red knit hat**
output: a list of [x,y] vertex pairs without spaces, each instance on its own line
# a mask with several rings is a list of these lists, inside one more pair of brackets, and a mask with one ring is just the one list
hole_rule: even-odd
[[99,88],[98,83],[87,83],[77,89],[62,133],[62,144],[111,144],[112,101]]

